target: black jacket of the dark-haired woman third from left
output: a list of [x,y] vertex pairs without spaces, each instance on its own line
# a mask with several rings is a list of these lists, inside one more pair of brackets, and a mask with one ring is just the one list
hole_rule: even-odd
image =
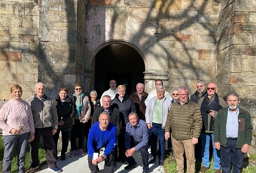
[[57,108],[58,122],[64,121],[64,125],[59,125],[58,130],[62,129],[64,132],[69,132],[73,128],[72,119],[75,115],[73,101],[67,96],[65,102],[62,103],[58,96],[54,99],[54,105]]

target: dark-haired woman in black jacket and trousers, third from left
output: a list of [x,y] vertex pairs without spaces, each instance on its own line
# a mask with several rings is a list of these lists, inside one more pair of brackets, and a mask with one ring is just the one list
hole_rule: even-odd
[[74,103],[68,96],[68,89],[62,87],[59,89],[58,98],[54,99],[55,106],[57,108],[59,127],[52,136],[54,152],[57,158],[57,144],[59,140],[59,133],[61,131],[62,136],[62,149],[61,149],[61,160],[66,160],[65,153],[67,152],[69,145],[69,134],[70,130],[73,128],[72,119],[75,114]]

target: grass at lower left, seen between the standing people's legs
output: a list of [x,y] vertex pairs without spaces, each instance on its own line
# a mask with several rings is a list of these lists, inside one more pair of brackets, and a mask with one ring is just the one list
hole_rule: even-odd
[[[46,153],[43,148],[39,148],[39,165],[45,164],[46,162]],[[0,173],[2,171],[2,164],[3,164],[3,153],[4,153],[4,146],[3,146],[3,138],[0,137]],[[17,149],[14,150],[14,157],[11,162],[11,173],[17,173]],[[26,155],[25,155],[25,171],[30,169],[30,146],[28,144]]]

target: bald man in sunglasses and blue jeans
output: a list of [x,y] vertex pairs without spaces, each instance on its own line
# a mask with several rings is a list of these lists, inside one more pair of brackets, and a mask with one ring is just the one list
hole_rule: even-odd
[[[218,105],[222,107],[226,107],[226,102],[223,98],[219,97],[217,95],[217,85],[215,83],[209,83],[207,85],[207,94],[200,98],[198,100],[198,106],[200,107],[202,118],[203,118],[203,127],[200,134],[201,142],[202,142],[202,161],[203,161],[203,167],[199,171],[199,173],[204,173],[210,168],[210,161],[209,161],[209,148],[210,143],[214,143],[214,136],[213,136],[213,130],[214,130],[214,121],[217,116],[218,110],[216,106],[214,107],[214,110],[210,110],[208,112],[206,110],[208,104],[211,100],[214,100]],[[213,169],[215,170],[215,173],[220,173],[220,151],[215,148],[213,145],[213,157],[214,157],[214,165]]]

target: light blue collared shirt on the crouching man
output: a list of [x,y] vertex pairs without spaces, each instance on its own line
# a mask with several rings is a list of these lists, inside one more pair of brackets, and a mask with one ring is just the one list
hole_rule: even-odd
[[136,146],[134,147],[136,151],[138,151],[141,147],[148,145],[148,138],[152,135],[151,130],[148,129],[145,121],[138,119],[138,124],[136,127],[130,124],[130,122],[126,125],[126,133],[125,133],[125,146],[126,149],[130,149],[131,145],[131,136],[134,138],[134,143]]

